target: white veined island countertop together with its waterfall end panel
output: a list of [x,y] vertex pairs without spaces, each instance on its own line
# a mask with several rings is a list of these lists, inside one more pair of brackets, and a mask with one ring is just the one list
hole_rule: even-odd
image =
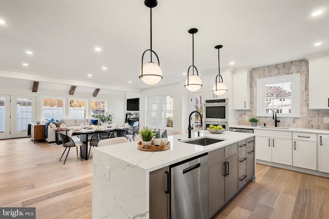
[[[183,143],[188,137],[181,134],[168,137],[171,146],[166,151],[140,151],[137,142],[93,149],[93,218],[149,218],[152,171],[234,143],[237,145],[253,134],[200,132],[200,137],[203,136],[225,141],[199,146]],[[193,132],[192,138],[197,137],[197,132]]]

